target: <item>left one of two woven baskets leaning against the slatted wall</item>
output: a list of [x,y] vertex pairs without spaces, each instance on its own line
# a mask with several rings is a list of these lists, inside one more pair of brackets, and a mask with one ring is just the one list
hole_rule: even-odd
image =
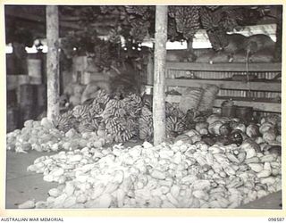
[[197,110],[202,93],[203,89],[200,87],[187,87],[184,92],[182,92],[179,109],[185,113],[191,109]]

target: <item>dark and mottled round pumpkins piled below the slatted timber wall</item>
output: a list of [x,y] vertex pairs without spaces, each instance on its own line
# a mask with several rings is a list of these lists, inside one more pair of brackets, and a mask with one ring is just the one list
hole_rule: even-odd
[[174,141],[182,140],[194,144],[203,141],[206,145],[241,145],[248,143],[256,151],[276,150],[281,153],[281,116],[269,115],[258,123],[243,123],[237,118],[221,117],[212,114],[207,118],[198,117],[193,121],[194,129],[177,136]]

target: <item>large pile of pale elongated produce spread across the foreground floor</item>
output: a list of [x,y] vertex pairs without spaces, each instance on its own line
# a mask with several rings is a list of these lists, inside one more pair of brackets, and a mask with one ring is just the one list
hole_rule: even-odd
[[281,190],[281,161],[245,143],[85,147],[34,161],[59,186],[19,208],[236,208]]

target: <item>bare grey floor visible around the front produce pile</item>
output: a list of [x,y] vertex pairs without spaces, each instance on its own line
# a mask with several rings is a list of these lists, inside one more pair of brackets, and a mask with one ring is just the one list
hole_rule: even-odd
[[[6,161],[6,209],[16,209],[17,204],[35,199],[46,201],[49,189],[58,186],[57,183],[48,183],[43,180],[42,174],[28,172],[27,167],[38,157],[52,155],[53,153],[14,153],[7,151]],[[269,194],[255,202],[250,202],[240,209],[282,209],[282,192]]]

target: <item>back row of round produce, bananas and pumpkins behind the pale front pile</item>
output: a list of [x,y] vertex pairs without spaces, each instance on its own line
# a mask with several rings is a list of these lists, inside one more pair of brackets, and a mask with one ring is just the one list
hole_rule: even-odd
[[[206,115],[197,111],[183,113],[166,103],[166,133],[171,141],[194,144],[241,145],[281,150],[281,117],[270,115],[262,120],[244,123],[237,118]],[[7,134],[7,149],[76,150],[85,146],[122,143],[131,138],[152,142],[152,106],[139,95],[118,97],[97,91],[89,103],[77,105],[63,113],[55,123],[44,118],[27,120],[24,128]]]

